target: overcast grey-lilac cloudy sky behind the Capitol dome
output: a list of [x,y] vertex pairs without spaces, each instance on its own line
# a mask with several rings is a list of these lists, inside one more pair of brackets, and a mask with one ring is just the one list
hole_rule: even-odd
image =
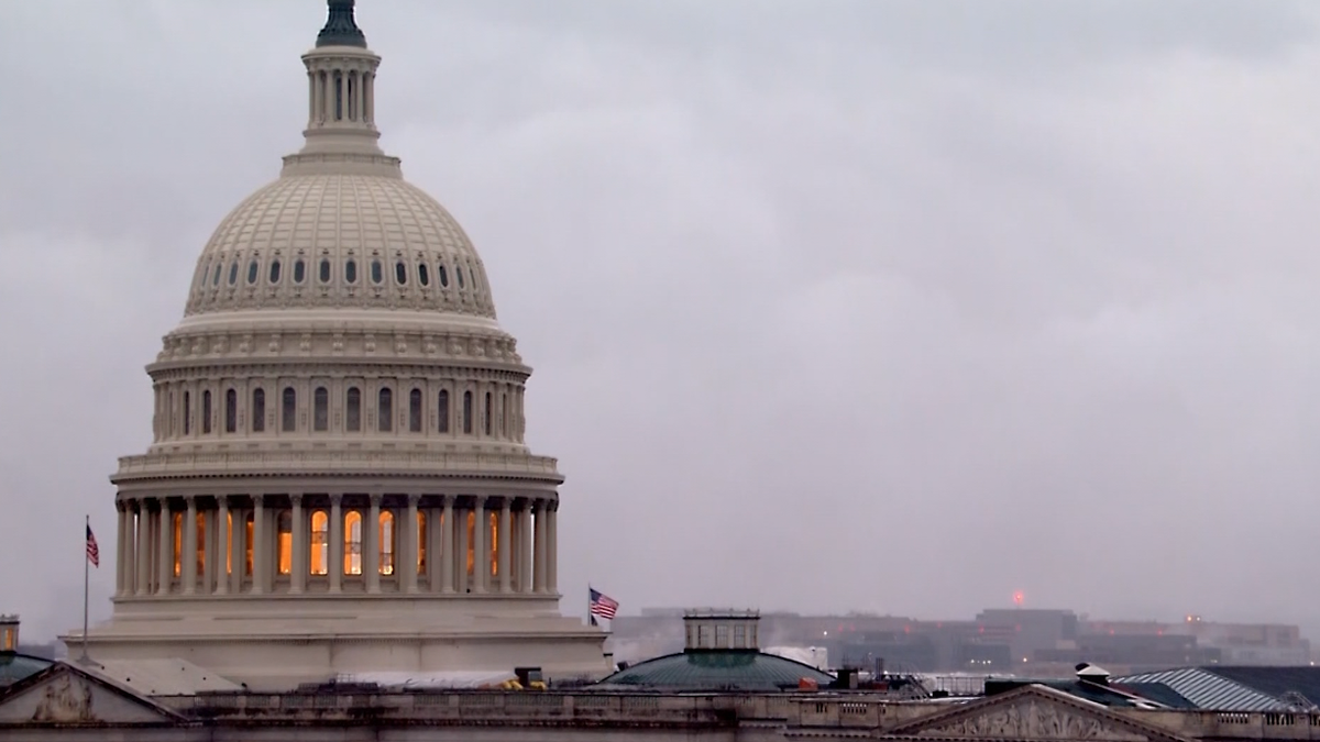
[[[319,0],[0,22],[0,613],[81,622],[144,364],[301,145]],[[1320,634],[1320,9],[362,0],[383,147],[480,250],[566,611]],[[94,576],[108,615],[114,569]],[[1320,636],[1316,636],[1320,638]]]

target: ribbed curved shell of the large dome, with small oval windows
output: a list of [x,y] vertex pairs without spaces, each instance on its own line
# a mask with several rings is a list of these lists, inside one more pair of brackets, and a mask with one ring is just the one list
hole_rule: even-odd
[[444,206],[403,178],[350,173],[284,176],[211,235],[186,314],[263,308],[495,317],[482,260]]

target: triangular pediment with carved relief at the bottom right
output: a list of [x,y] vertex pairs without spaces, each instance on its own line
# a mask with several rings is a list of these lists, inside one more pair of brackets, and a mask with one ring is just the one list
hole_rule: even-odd
[[1159,726],[1126,718],[1100,704],[1041,685],[972,701],[902,724],[883,734],[908,739],[1185,742]]

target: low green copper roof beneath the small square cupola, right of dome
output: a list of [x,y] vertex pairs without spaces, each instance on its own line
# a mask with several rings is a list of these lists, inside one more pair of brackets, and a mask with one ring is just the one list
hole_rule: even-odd
[[779,691],[809,677],[834,680],[809,664],[747,650],[702,650],[638,663],[606,677],[599,685],[628,685],[657,691]]

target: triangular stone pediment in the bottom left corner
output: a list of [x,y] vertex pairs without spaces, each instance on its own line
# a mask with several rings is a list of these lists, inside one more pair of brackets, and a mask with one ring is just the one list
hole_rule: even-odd
[[182,717],[150,698],[66,664],[51,667],[0,692],[5,725],[160,725]]

